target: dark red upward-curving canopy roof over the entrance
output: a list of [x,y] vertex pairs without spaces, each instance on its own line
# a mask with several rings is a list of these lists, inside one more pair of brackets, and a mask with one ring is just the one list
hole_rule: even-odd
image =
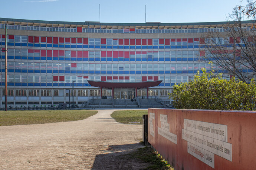
[[106,81],[91,81],[88,80],[88,83],[94,87],[102,87],[106,89],[114,88],[147,88],[158,86],[163,80],[158,81],[145,81],[145,82],[106,82]]

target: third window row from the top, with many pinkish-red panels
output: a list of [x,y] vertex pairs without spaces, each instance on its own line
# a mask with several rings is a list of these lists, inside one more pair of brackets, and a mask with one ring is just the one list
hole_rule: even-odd
[[[202,52],[204,54],[204,51]],[[8,56],[29,57],[78,57],[78,58],[100,58],[100,57],[124,57],[124,58],[193,58],[203,56],[198,50],[182,51],[73,51],[73,50],[32,50],[8,48]],[[0,52],[5,55],[5,52]]]

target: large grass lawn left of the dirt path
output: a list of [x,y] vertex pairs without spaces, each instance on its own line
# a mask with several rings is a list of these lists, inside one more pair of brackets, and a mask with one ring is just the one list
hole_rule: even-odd
[[68,122],[86,119],[96,110],[10,110],[0,111],[0,126]]

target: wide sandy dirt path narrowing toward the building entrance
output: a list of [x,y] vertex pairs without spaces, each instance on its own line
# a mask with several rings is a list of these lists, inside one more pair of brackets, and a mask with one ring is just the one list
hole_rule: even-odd
[[98,110],[76,122],[0,126],[0,169],[140,169],[122,158],[142,145],[142,125],[115,122]]

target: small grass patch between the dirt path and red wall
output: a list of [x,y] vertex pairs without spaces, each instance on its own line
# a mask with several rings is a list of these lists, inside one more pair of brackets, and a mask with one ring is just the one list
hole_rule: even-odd
[[111,117],[119,123],[142,124],[142,115],[147,115],[148,110],[116,110]]

